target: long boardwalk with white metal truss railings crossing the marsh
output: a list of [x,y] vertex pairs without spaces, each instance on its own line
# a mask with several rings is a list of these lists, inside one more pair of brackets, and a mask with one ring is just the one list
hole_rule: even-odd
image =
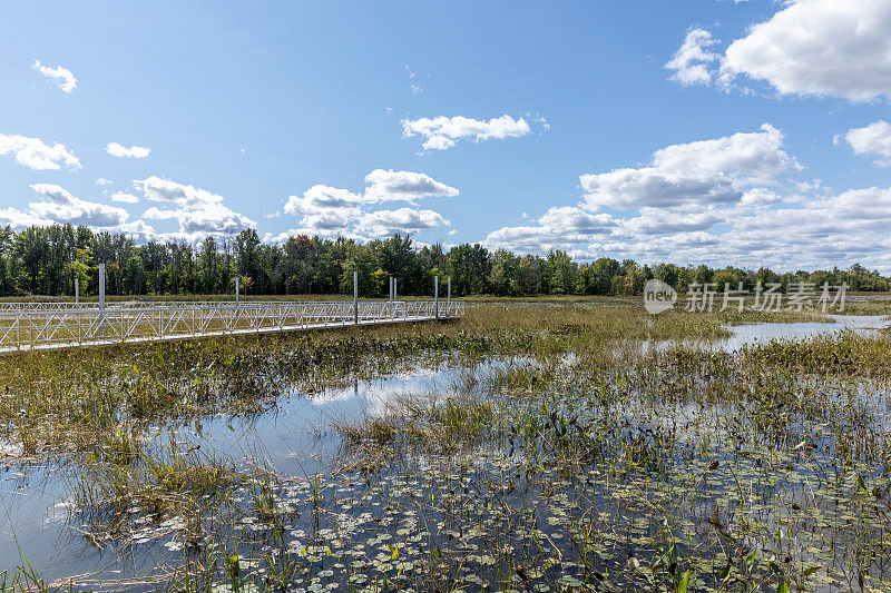
[[463,303],[7,303],[0,353],[462,317]]

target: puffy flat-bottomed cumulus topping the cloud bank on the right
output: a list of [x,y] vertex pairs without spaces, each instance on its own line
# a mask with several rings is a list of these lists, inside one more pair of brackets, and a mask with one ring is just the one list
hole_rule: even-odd
[[647,167],[582,175],[587,207],[615,209],[733,202],[747,186],[797,170],[781,149],[783,132],[770,123],[756,132],[668,146]]

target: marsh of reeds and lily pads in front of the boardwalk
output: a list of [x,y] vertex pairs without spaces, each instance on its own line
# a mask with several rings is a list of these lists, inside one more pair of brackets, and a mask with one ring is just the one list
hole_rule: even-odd
[[[0,591],[887,591],[889,337],[703,347],[764,320],[480,303],[0,357],[6,463],[63,476],[65,544],[106,559],[55,569],[25,545]],[[422,369],[422,389],[284,424]]]

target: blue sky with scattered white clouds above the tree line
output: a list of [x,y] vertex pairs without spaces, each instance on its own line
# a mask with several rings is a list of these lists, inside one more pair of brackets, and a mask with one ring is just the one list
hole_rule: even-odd
[[889,33],[875,0],[4,2],[0,224],[889,271]]

